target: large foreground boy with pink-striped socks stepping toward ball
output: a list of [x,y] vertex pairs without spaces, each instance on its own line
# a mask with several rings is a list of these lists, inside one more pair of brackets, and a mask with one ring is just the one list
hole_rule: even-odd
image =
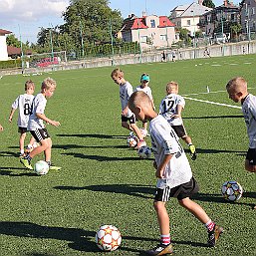
[[199,187],[174,129],[161,115],[154,112],[149,97],[143,92],[135,92],[130,96],[128,108],[138,120],[149,121],[151,146],[155,157],[153,166],[158,178],[153,206],[160,229],[160,244],[146,253],[165,255],[173,252],[169,216],[165,208],[170,197],[176,197],[182,207],[204,224],[208,231],[207,244],[209,247],[215,246],[223,228],[216,225],[202,207],[190,199],[190,196],[198,192]]

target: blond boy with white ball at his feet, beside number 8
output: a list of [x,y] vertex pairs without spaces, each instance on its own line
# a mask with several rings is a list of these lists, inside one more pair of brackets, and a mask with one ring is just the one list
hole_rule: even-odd
[[26,156],[20,158],[20,162],[28,169],[33,169],[31,166],[32,158],[43,151],[45,153],[45,161],[48,162],[49,168],[61,169],[61,167],[52,165],[52,139],[44,125],[44,122],[46,122],[54,127],[60,126],[59,122],[48,119],[44,114],[47,103],[46,99],[53,96],[55,89],[56,82],[51,78],[47,78],[42,83],[41,93],[38,94],[33,100],[33,109],[28,122],[28,130],[30,130],[31,134],[35,137],[37,142],[41,143],[41,145],[34,148]]

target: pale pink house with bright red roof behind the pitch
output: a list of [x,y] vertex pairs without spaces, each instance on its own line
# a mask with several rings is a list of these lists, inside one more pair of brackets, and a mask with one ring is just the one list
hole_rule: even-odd
[[138,42],[141,49],[170,47],[178,41],[175,25],[167,16],[144,14],[142,17],[136,17],[131,14],[125,19],[121,33],[123,41]]

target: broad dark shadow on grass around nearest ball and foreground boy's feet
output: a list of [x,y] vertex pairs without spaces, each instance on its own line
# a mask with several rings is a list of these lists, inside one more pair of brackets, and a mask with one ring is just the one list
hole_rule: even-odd
[[[123,233],[123,232],[122,232]],[[68,241],[68,246],[71,249],[82,252],[99,252],[99,248],[95,243],[96,231],[84,230],[81,228],[65,228],[65,227],[51,227],[42,226],[32,222],[15,222],[15,221],[0,221],[0,234],[7,236],[27,237],[29,239],[55,239],[60,241]],[[127,240],[127,241],[126,241]],[[158,239],[151,239],[148,237],[135,237],[123,234],[123,241],[148,241],[157,242]],[[198,242],[188,241],[173,241],[176,244],[188,244],[191,246],[205,247],[206,245]],[[124,242],[123,242],[124,243]],[[122,245],[119,250],[127,252],[136,252],[139,255],[145,255],[144,250],[137,248],[130,248]],[[42,255],[36,252],[28,253],[27,255]]]

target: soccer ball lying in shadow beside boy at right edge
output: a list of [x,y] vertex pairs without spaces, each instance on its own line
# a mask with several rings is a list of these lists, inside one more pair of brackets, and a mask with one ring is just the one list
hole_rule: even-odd
[[236,181],[226,181],[221,187],[221,193],[228,201],[238,201],[243,194],[243,188]]

